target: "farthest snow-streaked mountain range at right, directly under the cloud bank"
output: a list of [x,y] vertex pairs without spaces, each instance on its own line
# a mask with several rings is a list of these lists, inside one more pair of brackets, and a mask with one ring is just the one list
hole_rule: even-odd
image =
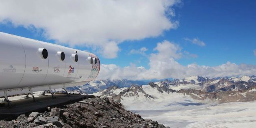
[[159,86],[166,86],[169,89],[197,89],[202,91],[239,91],[254,87],[256,77],[242,76],[240,78],[204,78],[202,76],[191,76],[182,80],[164,80],[155,82]]

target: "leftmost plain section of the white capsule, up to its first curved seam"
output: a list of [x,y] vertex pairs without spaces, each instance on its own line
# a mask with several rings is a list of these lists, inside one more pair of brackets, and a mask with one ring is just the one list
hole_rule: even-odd
[[0,34],[0,87],[17,87],[24,75],[25,65],[22,44],[11,35]]

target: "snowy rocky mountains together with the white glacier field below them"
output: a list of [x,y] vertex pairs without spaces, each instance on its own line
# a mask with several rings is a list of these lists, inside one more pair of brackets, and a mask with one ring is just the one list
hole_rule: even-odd
[[[255,124],[255,75],[240,78],[191,76],[125,88],[115,85],[93,95],[120,101],[126,109],[171,128],[239,127],[236,126],[239,123],[243,127],[244,122],[253,127]],[[233,125],[234,121],[239,123]]]

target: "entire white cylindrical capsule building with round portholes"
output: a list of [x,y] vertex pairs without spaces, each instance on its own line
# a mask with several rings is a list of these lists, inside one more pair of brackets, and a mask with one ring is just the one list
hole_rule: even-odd
[[0,32],[0,97],[85,85],[100,72],[95,54]]

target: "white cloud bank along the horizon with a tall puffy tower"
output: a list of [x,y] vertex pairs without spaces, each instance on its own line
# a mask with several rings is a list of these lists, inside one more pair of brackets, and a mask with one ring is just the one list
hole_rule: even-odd
[[154,50],[156,50],[157,53],[150,54],[149,69],[136,67],[136,65],[130,65],[124,68],[117,65],[103,65],[98,78],[149,80],[185,78],[194,75],[215,78],[223,76],[254,75],[256,72],[256,65],[237,65],[231,62],[213,67],[197,65],[195,63],[181,65],[175,60],[175,58],[180,57],[180,47],[169,41],[158,43]]

